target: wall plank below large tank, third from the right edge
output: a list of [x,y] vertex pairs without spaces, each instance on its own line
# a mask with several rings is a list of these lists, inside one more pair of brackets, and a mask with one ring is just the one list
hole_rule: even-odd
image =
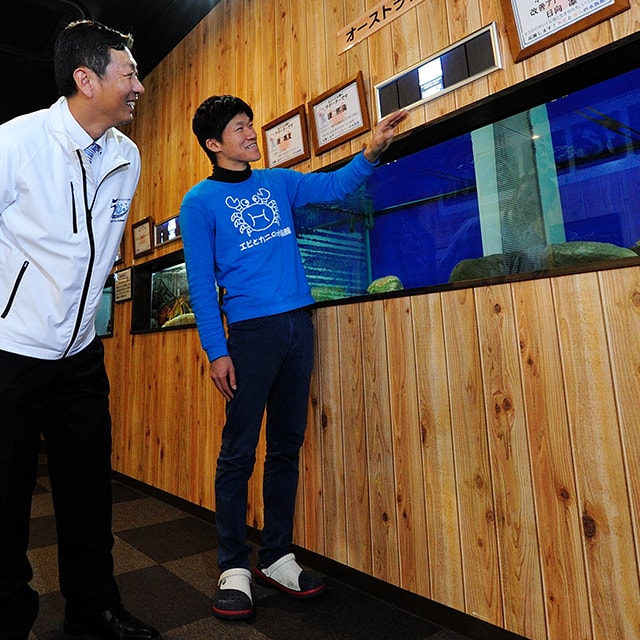
[[591,639],[582,526],[549,281],[512,285],[549,638]]

